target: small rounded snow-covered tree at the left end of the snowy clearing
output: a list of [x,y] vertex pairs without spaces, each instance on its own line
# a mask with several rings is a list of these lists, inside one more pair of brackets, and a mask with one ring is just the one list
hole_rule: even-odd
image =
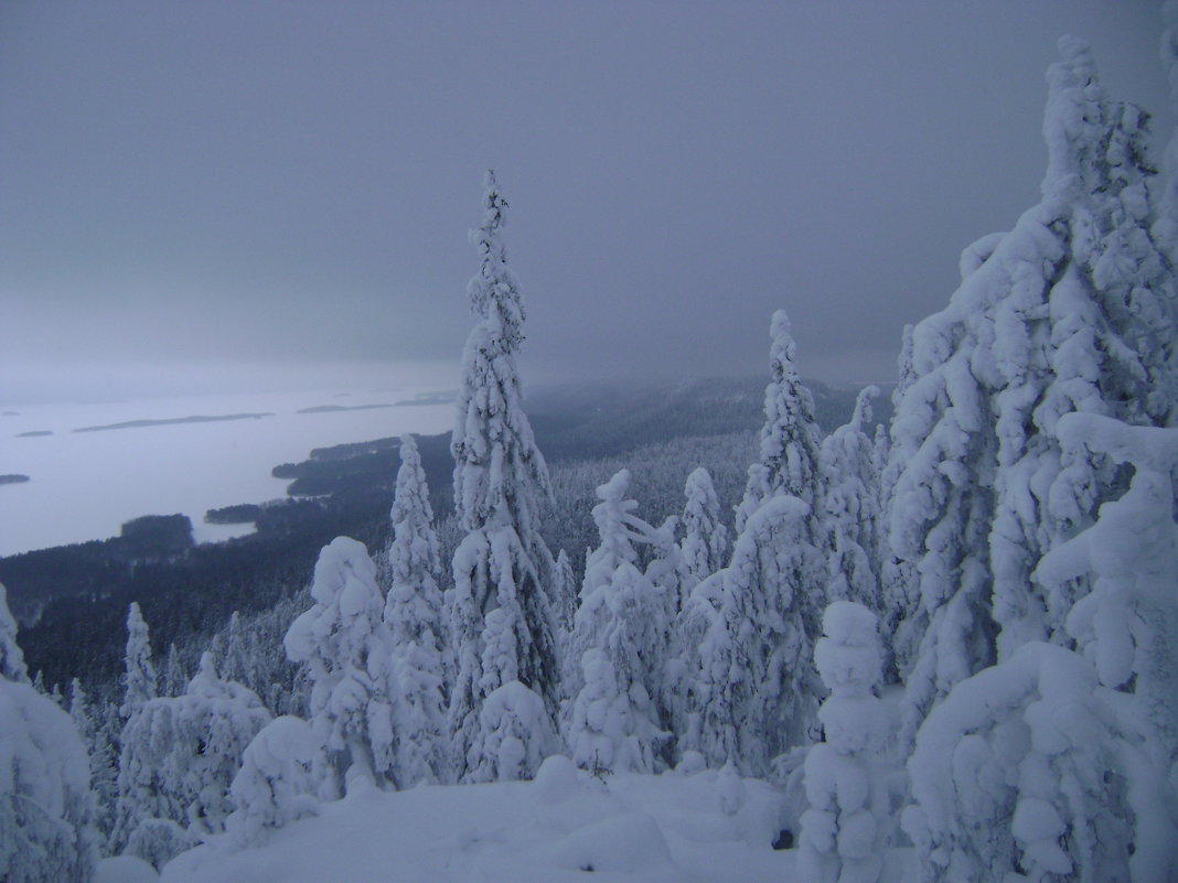
[[315,812],[319,745],[300,717],[278,717],[253,737],[230,785],[233,812],[225,830],[239,847],[260,845],[267,831]]

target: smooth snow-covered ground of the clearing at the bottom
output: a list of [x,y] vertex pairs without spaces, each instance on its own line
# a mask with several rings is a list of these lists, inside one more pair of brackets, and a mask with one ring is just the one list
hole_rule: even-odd
[[[772,848],[781,791],[693,775],[604,781],[549,758],[535,782],[369,790],[324,804],[260,848],[225,841],[164,868],[164,883],[643,881],[788,883],[794,851]],[[900,879],[893,862],[888,879]],[[591,869],[593,877],[585,877]]]

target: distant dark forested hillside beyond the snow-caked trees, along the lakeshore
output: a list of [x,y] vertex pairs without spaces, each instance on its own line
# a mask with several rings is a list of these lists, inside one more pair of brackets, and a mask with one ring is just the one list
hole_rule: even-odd
[[[814,387],[825,425],[851,416],[853,392]],[[540,387],[528,407],[552,471],[545,539],[567,550],[578,572],[595,536],[594,487],[622,465],[634,471],[634,492],[648,518],[682,509],[683,482],[700,465],[712,471],[732,511],[763,396],[761,378]],[[449,434],[417,443],[431,503],[445,524],[452,510]],[[384,438],[336,445],[311,451],[303,463],[277,465],[274,476],[291,479],[289,498],[260,506],[257,531],[246,537],[191,545],[190,529],[188,547],[178,546],[174,519],[148,519],[155,532],[147,537],[141,524],[131,523],[111,540],[0,559],[0,583],[22,624],[29,669],[41,671],[47,684],[78,677],[87,689],[113,689],[126,609],[138,602],[157,646],[183,648],[191,670],[198,649],[233,611],[266,611],[304,587],[318,549],[332,538],[356,537],[373,553],[388,544],[398,444]]]

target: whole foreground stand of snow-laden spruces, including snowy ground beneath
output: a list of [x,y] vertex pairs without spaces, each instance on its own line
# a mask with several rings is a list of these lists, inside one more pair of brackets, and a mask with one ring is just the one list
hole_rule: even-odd
[[[335,825],[366,837],[339,879],[490,856],[511,879],[1178,881],[1178,139],[1151,158],[1145,111],[1060,53],[1041,201],[905,330],[889,424],[868,386],[819,429],[777,311],[736,505],[701,465],[642,518],[622,464],[583,559],[544,539],[489,173],[452,517],[406,436],[386,546],[332,540],[194,673],[132,604],[113,699],[34,684],[0,587],[0,879],[286,879],[267,862]],[[364,857],[519,801],[560,841],[543,868],[502,871],[482,828],[439,841],[474,856],[455,876]],[[667,852],[721,823],[743,843],[717,876]]]

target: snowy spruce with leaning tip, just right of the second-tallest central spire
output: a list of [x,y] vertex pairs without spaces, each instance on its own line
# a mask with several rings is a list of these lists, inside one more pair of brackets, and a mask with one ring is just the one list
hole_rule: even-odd
[[826,522],[830,531],[826,595],[872,610],[881,606],[876,569],[882,517],[875,443],[867,429],[872,423],[871,400],[878,394],[876,386],[860,392],[851,423],[822,440]]

